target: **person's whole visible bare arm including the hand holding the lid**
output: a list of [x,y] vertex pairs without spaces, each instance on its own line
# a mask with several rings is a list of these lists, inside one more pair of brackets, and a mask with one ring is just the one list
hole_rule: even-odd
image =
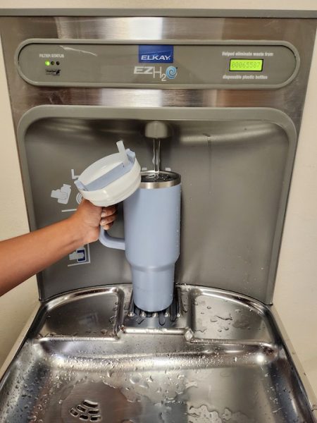
[[98,239],[99,225],[110,228],[116,207],[83,200],[68,219],[39,231],[0,242],[0,295],[57,262],[81,245]]

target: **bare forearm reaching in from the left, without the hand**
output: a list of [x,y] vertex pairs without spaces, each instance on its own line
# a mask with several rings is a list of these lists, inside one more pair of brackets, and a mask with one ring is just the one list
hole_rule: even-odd
[[71,219],[0,242],[0,295],[85,243]]

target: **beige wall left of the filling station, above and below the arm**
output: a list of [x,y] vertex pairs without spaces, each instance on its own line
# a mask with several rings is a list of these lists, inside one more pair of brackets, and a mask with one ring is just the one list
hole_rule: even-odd
[[[0,240],[28,231],[4,60],[0,49]],[[1,269],[0,269],[1,271]],[[0,367],[37,302],[35,278],[0,297]]]

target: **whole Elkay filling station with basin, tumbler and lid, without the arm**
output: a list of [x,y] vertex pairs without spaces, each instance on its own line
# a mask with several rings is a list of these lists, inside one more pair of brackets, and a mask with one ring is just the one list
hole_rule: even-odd
[[118,204],[37,275],[0,423],[316,422],[272,305],[316,21],[0,24],[30,229]]

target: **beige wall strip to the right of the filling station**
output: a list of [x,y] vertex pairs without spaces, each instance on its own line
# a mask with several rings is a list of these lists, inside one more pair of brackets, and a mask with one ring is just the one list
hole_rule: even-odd
[[317,393],[316,44],[282,238],[274,305]]

